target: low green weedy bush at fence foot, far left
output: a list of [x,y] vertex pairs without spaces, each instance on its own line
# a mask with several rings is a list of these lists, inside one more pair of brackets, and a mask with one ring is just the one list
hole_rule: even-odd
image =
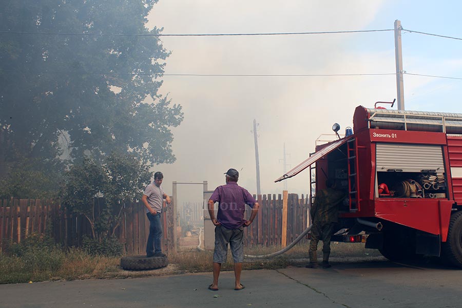
[[64,262],[65,254],[53,239],[31,236],[9,247],[12,257],[21,260],[26,271],[57,271]]

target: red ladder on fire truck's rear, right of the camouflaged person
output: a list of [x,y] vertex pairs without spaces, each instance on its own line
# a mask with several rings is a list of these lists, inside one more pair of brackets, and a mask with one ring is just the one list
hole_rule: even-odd
[[356,138],[347,141],[348,194],[350,212],[359,210],[358,145]]

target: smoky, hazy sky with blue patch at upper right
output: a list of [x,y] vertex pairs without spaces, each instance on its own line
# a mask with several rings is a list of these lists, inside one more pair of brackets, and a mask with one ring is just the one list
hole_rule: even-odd
[[[462,37],[458,1],[159,0],[149,26],[165,34],[309,32],[403,28]],[[394,33],[287,36],[162,37],[171,51],[166,74],[367,74],[394,73]],[[402,33],[408,73],[462,78],[462,41]],[[287,164],[314,151],[315,140],[338,122],[353,126],[356,106],[396,98],[396,77],[164,76],[160,89],[181,104],[184,122],[173,129],[177,161],[159,165],[163,187],[171,182],[224,184],[223,172],[240,171],[239,184],[256,193],[253,120],[263,194],[278,194]],[[405,75],[408,110],[462,112],[462,80]],[[396,106],[394,107],[396,108]],[[309,192],[309,172],[287,180],[289,192]],[[179,187],[179,201],[200,200],[202,186]],[[188,199],[188,200],[186,200]]]

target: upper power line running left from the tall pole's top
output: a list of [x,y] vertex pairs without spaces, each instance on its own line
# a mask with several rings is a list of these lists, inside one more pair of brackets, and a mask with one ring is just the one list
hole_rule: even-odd
[[320,32],[272,32],[272,33],[190,33],[190,34],[162,34],[162,33],[60,33],[60,32],[22,32],[0,31],[3,34],[27,35],[60,35],[60,36],[257,36],[257,35],[304,35],[304,34],[335,34],[335,33],[364,33],[394,31],[394,29],[351,30],[351,31],[320,31]]

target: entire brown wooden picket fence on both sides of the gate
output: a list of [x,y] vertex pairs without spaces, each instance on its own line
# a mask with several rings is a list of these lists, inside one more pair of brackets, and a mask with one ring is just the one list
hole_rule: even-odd
[[[291,243],[309,225],[309,198],[288,194],[286,243]],[[258,197],[260,210],[254,222],[244,229],[246,246],[281,245],[282,242],[282,195]],[[95,204],[103,200],[95,198]],[[173,206],[165,207],[162,213],[163,250],[174,249]],[[98,206],[95,206],[98,215]],[[246,210],[246,217],[251,210]],[[125,204],[122,222],[116,230],[124,252],[128,255],[145,253],[149,221],[145,207],[140,201]],[[10,243],[18,243],[32,234],[51,235],[64,247],[82,246],[84,235],[91,236],[88,220],[82,215],[70,214],[55,200],[9,199],[0,200],[0,252]],[[303,239],[300,243],[307,240]]]

